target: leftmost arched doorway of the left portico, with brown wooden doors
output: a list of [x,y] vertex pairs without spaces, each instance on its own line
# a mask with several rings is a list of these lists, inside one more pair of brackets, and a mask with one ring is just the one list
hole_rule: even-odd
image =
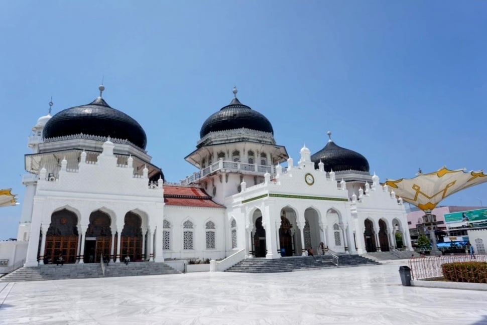
[[46,233],[44,257],[55,262],[62,256],[65,263],[75,263],[78,253],[78,218],[67,210],[54,212]]

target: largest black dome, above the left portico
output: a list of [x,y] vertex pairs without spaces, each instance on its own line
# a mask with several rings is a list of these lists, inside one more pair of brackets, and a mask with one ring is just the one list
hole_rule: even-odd
[[52,138],[80,133],[129,140],[142,149],[147,144],[142,126],[129,115],[111,108],[101,97],[55,114],[44,126],[42,135]]

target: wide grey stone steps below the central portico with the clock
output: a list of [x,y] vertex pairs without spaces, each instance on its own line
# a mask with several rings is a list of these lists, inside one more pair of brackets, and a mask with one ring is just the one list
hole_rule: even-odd
[[[359,255],[339,255],[339,266],[359,266],[379,264],[373,260]],[[293,272],[309,269],[322,269],[336,267],[333,265],[331,255],[320,256],[293,256],[278,259],[248,258],[233,265],[225,272],[242,273],[277,273]]]

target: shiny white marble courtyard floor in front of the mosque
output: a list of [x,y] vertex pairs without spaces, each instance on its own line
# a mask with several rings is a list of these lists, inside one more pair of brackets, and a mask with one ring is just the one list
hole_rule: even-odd
[[487,324],[485,291],[405,287],[399,265],[0,283],[0,323]]

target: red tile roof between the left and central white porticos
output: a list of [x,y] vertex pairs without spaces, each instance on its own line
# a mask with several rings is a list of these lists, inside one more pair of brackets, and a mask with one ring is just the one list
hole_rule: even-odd
[[203,189],[174,185],[164,185],[164,203],[185,207],[225,208],[214,203]]

